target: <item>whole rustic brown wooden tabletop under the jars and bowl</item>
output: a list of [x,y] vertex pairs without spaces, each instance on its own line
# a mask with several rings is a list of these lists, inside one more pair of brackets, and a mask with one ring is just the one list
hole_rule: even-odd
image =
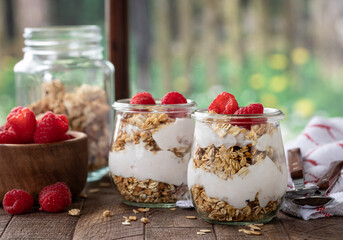
[[[134,214],[134,207],[121,203],[118,192],[109,184],[109,178],[89,183],[87,198],[73,201],[71,208],[81,209],[80,216],[67,212],[51,214],[39,212],[9,215],[0,208],[0,239],[343,239],[343,218],[303,221],[283,213],[262,226],[262,235],[252,236],[238,232],[239,226],[211,225],[197,216],[194,209],[151,209]],[[110,210],[111,217],[103,212]],[[137,216],[138,220],[125,226],[123,216]],[[148,224],[139,221],[149,219]],[[200,229],[211,233],[197,235]]]

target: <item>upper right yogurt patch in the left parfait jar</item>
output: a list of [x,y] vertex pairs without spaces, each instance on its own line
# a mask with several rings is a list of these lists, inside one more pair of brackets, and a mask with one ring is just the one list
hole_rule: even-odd
[[193,141],[194,120],[177,118],[174,123],[152,134],[161,149],[187,148]]

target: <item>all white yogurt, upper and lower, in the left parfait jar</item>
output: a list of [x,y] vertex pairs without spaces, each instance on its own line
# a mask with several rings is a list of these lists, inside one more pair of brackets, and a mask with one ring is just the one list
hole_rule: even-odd
[[[140,129],[128,124],[123,130],[130,134],[131,131]],[[179,158],[168,149],[188,148],[192,144],[193,133],[194,121],[192,119],[177,118],[175,122],[152,134],[156,144],[162,150],[149,151],[145,149],[145,143],[142,142],[126,144],[124,150],[110,152],[110,171],[125,178],[152,179],[174,185],[187,183],[190,153]]]

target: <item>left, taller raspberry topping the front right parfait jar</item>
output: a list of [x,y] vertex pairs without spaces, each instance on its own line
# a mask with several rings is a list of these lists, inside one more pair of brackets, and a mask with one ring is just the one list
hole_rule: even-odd
[[208,107],[209,112],[218,114],[233,114],[239,109],[235,96],[228,92],[219,94]]

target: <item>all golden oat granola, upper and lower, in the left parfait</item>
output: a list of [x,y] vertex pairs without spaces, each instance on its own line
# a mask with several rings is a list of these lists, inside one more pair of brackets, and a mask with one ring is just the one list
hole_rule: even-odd
[[[114,152],[125,150],[126,144],[143,144],[147,151],[158,152],[152,134],[168,124],[175,122],[166,113],[137,112],[124,113],[119,119],[120,124],[116,130],[111,150]],[[190,151],[187,148],[171,148],[168,151],[175,154],[181,161]],[[125,200],[141,203],[171,203],[176,202],[181,195],[187,192],[187,187],[158,182],[151,179],[138,180],[134,177],[124,178],[112,174],[114,183]]]

